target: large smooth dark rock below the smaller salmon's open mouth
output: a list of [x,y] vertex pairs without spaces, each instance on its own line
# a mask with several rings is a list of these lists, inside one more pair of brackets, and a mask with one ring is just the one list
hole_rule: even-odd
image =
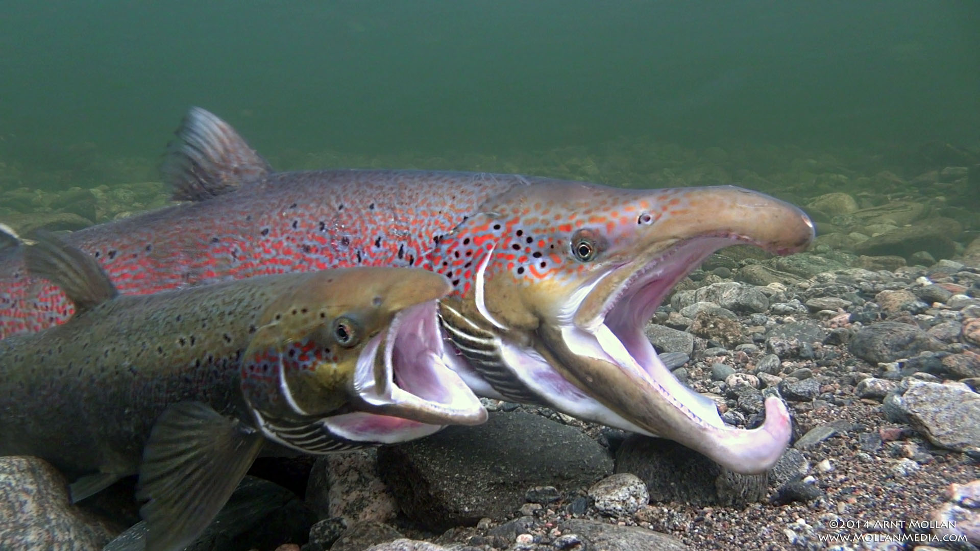
[[534,486],[588,486],[613,460],[575,428],[515,412],[382,448],[378,469],[410,519],[444,530],[507,517]]

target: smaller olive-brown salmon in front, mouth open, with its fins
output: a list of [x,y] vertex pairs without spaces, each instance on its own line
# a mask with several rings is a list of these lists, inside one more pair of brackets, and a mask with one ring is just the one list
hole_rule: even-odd
[[415,359],[440,338],[418,327],[438,323],[442,275],[355,268],[122,296],[51,235],[18,246],[75,314],[0,340],[0,455],[80,476],[75,501],[138,473],[148,551],[192,542],[264,445],[322,454],[486,420],[460,376]]

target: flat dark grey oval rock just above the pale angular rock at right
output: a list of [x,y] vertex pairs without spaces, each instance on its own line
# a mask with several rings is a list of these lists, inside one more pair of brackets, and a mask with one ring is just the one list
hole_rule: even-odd
[[848,342],[848,350],[872,366],[911,358],[926,350],[945,349],[945,344],[917,326],[898,322],[881,322],[861,327]]

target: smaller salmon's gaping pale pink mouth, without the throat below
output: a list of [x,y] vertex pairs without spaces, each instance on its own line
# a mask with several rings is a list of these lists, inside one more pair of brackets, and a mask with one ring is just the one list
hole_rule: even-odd
[[442,340],[435,301],[395,315],[358,359],[354,408],[437,427],[485,422],[487,411],[479,398],[443,361]]

